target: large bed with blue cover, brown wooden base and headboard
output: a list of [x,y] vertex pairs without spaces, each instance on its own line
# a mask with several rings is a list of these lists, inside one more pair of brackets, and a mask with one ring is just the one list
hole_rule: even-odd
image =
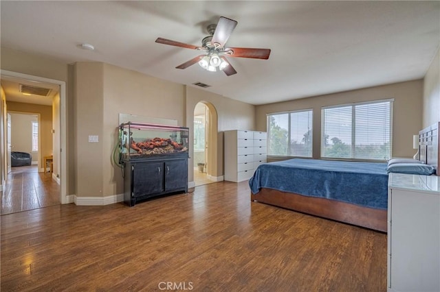
[[[435,169],[439,124],[419,132],[419,159]],[[386,163],[370,162],[368,170],[365,163],[294,159],[260,165],[249,181],[251,201],[386,232]]]

